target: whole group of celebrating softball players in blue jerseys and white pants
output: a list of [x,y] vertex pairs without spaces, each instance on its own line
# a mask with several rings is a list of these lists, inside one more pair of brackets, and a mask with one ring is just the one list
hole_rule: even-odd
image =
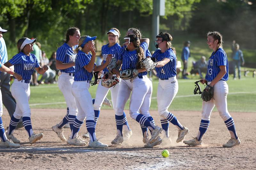
[[[4,31],[7,30],[0,29],[1,36],[5,33]],[[116,137],[111,144],[121,144],[132,136],[132,130],[124,113],[124,106],[130,95],[129,114],[140,124],[142,142],[145,147],[154,147],[161,143],[171,144],[169,122],[177,127],[176,142],[181,142],[188,134],[189,129],[183,126],[173,113],[168,111],[178,92],[177,57],[175,48],[172,47],[171,34],[161,32],[156,35],[154,43],[157,49],[153,56],[148,50],[149,39],[142,38],[140,30],[136,28],[128,29],[123,46],[119,44],[121,34],[118,29],[111,28],[107,35],[108,44],[101,48],[103,61],[101,65],[96,66],[94,41],[97,37],[81,36],[79,29],[75,27],[67,30],[66,41],[57,50],[56,62],[56,67],[61,71],[58,84],[67,103],[67,114],[60,123],[52,126],[52,130],[62,141],[67,141],[67,144],[86,145],[87,141],[78,135],[85,120],[87,133],[83,137],[90,139],[88,147],[108,147],[108,144],[103,144],[96,137],[95,127],[100,116],[101,106],[110,90],[116,119]],[[30,144],[34,144],[44,135],[33,132],[28,104],[31,74],[34,69],[39,74],[48,70],[47,66],[41,68],[35,55],[30,54],[33,51],[35,41],[36,39],[20,39],[17,43],[19,53],[4,65],[0,63],[0,71],[13,74],[15,78],[12,84],[12,95],[17,101],[17,107],[6,134],[1,119],[2,101],[0,100],[0,147],[20,147],[19,144],[15,144],[20,143],[20,140],[13,136],[13,131],[21,117],[28,132]],[[213,49],[213,53],[208,61],[206,78],[200,81],[202,83],[207,82],[207,88],[213,88],[214,95],[210,101],[203,101],[202,119],[197,137],[184,141],[184,143],[194,146],[202,144],[202,137],[210,124],[210,114],[216,105],[231,135],[231,139],[227,144],[223,144],[223,147],[233,147],[239,145],[241,141],[236,134],[234,120],[227,110],[228,60],[221,47],[221,34],[218,32],[208,33],[207,44],[209,48]],[[14,65],[14,70],[9,68],[12,65]],[[155,125],[149,112],[153,85],[147,74],[153,69],[156,69],[159,78],[157,106],[162,127]],[[93,74],[95,82],[91,84]],[[92,99],[89,87],[97,84],[96,97]],[[68,140],[63,133],[63,127],[67,123],[69,123],[71,130]],[[162,131],[164,131],[164,137],[161,139],[159,135]]]

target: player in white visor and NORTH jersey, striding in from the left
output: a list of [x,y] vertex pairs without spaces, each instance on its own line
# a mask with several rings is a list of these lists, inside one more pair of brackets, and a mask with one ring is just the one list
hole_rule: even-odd
[[36,39],[30,40],[29,38],[21,38],[17,43],[19,53],[14,55],[11,60],[4,64],[7,67],[14,65],[15,72],[13,74],[15,79],[12,84],[11,92],[17,105],[15,112],[12,115],[7,134],[7,138],[11,139],[14,143],[20,143],[20,140],[14,137],[12,133],[19,123],[21,116],[23,125],[28,132],[30,144],[34,144],[44,135],[43,133],[35,134],[33,132],[30,119],[31,111],[28,104],[30,98],[30,79],[34,69],[36,69],[39,74],[44,74],[44,72],[48,70],[47,66],[44,66],[43,68],[39,66],[36,55],[30,54],[30,52],[34,50],[34,42],[36,42]]

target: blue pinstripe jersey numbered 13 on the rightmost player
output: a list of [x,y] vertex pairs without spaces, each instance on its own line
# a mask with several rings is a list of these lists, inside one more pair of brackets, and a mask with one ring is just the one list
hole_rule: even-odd
[[228,80],[228,57],[222,48],[218,48],[216,53],[212,52],[211,57],[207,62],[207,73],[205,79],[209,82],[212,81],[220,72],[220,66],[225,65],[227,73],[221,80]]

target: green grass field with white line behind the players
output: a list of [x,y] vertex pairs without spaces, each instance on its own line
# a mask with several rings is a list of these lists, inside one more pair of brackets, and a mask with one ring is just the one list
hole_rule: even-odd
[[[251,76],[251,75],[250,75]],[[231,77],[231,76],[230,76]],[[169,110],[197,110],[200,111],[202,107],[202,100],[200,95],[194,95],[194,82],[197,79],[178,79],[179,91],[174,98]],[[228,94],[228,110],[237,112],[255,112],[256,110],[256,78],[242,77],[241,80],[228,80],[229,94]],[[157,110],[157,93],[158,80],[153,80],[153,94],[151,100],[151,110]],[[203,85],[201,85],[203,88]],[[30,105],[31,108],[66,108],[65,99],[60,92],[58,85],[40,85],[31,86]],[[95,97],[97,85],[90,87],[92,98]],[[111,99],[110,92],[108,99]],[[127,102],[125,109],[129,108]],[[111,109],[103,106],[102,109]],[[214,108],[217,111],[216,108]]]

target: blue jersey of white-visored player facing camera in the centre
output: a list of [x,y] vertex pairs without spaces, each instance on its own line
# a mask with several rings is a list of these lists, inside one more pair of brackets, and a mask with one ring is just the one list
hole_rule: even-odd
[[[108,44],[102,46],[101,47],[101,54],[102,54],[103,63],[106,63],[106,59],[108,57],[108,54],[112,54],[113,55],[112,58],[116,58],[116,61],[117,61],[120,50],[121,50],[121,46],[118,43],[116,43],[112,47],[108,47]],[[108,72],[108,69],[105,68],[105,69],[103,69],[103,71]]]

